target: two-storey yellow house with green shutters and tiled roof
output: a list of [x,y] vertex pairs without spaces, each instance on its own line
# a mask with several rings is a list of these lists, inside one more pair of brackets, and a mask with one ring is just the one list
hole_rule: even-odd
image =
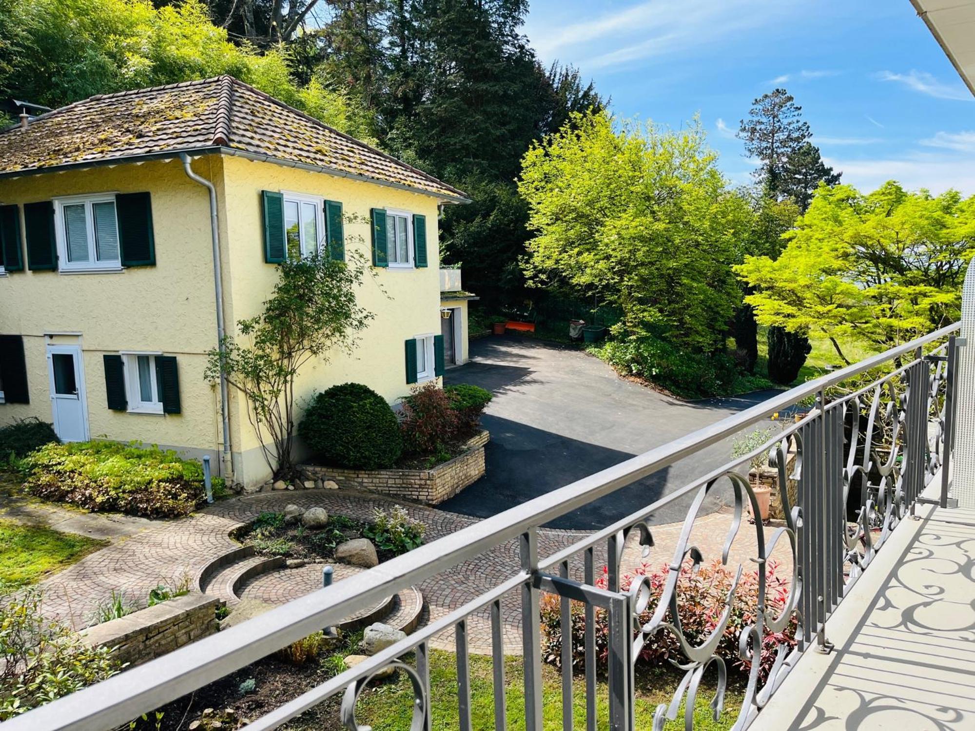
[[345,381],[395,402],[445,365],[438,214],[466,201],[229,76],[21,116],[0,133],[0,423],[264,481],[246,402],[204,377],[218,334],[260,312],[284,257],[360,250],[374,319],[353,356],[299,374],[298,407]]

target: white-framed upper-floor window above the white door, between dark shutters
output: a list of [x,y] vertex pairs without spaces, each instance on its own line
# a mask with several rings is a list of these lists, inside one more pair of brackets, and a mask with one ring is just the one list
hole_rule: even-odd
[[55,235],[63,271],[122,268],[114,195],[57,199]]

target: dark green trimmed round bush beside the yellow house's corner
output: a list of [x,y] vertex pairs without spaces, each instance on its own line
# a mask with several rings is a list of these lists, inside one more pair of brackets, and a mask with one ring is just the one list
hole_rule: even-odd
[[350,470],[392,467],[403,451],[393,409],[361,383],[342,383],[315,396],[298,435],[327,464]]

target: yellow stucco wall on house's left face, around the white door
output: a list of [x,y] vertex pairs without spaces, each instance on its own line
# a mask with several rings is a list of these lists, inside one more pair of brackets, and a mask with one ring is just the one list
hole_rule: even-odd
[[[218,171],[220,161],[214,162]],[[0,405],[0,424],[24,416],[52,419],[46,346],[80,343],[92,438],[215,449],[215,389],[203,379],[203,354],[216,340],[206,190],[188,180],[178,162],[0,180],[0,202],[21,206],[64,195],[140,191],[151,193],[156,266],[106,274],[25,269],[0,278],[0,333],[23,335],[30,395],[30,404]],[[79,334],[45,335],[53,332]],[[125,350],[176,356],[181,414],[108,409],[102,355]]]

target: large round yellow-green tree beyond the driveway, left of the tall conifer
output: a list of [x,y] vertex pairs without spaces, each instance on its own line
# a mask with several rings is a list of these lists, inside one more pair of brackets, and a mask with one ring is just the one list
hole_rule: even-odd
[[730,264],[749,225],[695,121],[680,132],[605,112],[534,145],[519,189],[536,232],[526,272],[620,308],[631,333],[714,352],[740,292]]

